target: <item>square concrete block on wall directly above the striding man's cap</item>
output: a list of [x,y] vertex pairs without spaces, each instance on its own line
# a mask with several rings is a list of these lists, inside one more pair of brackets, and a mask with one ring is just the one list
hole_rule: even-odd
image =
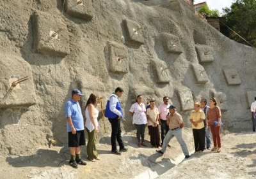
[[191,90],[178,90],[178,94],[182,111],[191,110],[194,108],[194,100]]

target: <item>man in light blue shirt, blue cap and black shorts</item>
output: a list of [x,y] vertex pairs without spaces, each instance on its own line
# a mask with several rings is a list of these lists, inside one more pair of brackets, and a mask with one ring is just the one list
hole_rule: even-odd
[[[81,159],[81,145],[85,145],[84,119],[78,101],[81,99],[81,92],[78,89],[72,90],[72,97],[65,104],[67,117],[68,147],[70,147],[71,159],[69,161],[73,168],[77,164],[86,165]],[[76,156],[75,156],[76,155]],[[75,158],[76,157],[76,158]]]

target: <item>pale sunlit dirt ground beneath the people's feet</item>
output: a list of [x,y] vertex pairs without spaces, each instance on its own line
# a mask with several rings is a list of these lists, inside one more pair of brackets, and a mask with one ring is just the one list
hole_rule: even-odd
[[121,156],[110,153],[109,136],[101,138],[98,152],[101,161],[86,159],[86,147],[82,158],[87,166],[73,169],[68,165],[67,143],[38,148],[35,155],[1,157],[1,178],[253,178],[256,176],[255,133],[231,133],[222,136],[222,150],[218,154],[205,150],[193,154],[191,129],[182,129],[191,157],[184,159],[177,141],[170,141],[171,148],[165,155],[148,147],[138,148],[132,133],[125,133],[123,140],[129,151]]

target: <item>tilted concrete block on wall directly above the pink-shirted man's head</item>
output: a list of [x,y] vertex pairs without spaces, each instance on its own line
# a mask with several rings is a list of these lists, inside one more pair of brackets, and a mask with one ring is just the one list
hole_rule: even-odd
[[166,62],[152,60],[151,64],[157,78],[157,83],[169,83],[171,81],[170,67],[166,65]]

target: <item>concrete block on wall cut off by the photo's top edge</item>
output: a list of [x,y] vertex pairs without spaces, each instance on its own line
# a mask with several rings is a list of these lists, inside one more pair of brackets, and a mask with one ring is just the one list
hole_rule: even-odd
[[92,0],[65,1],[65,11],[73,17],[83,18],[85,20],[92,20],[93,18]]

